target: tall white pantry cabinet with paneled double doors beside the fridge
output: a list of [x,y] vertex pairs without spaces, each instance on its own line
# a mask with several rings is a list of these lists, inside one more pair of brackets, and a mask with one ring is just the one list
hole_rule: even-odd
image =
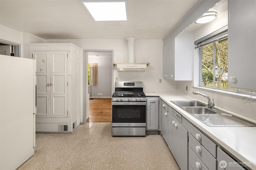
[[36,60],[36,132],[72,133],[80,124],[80,52],[71,43],[28,44]]

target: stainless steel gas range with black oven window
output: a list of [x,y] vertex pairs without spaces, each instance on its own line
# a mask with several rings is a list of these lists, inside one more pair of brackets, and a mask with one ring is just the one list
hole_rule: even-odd
[[143,82],[115,82],[112,95],[112,136],[146,136],[146,95]]

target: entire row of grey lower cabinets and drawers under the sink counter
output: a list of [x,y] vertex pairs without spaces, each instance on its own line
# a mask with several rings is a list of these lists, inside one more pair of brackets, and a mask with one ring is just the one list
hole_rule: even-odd
[[160,105],[161,134],[181,170],[246,169],[171,106]]

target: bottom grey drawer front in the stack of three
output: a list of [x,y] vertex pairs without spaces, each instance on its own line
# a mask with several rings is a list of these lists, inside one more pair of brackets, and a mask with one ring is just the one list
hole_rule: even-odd
[[193,170],[208,170],[202,160],[196,156],[190,147],[188,148],[188,164]]

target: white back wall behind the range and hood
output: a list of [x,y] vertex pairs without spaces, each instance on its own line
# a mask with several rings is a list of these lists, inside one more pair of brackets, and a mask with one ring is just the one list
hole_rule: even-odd
[[[66,39],[46,40],[46,43],[73,43],[82,49],[114,50],[114,63],[127,63],[128,50],[127,41],[124,40],[90,40],[90,39]],[[144,92],[155,91],[176,91],[177,82],[163,79],[163,41],[156,40],[135,40],[135,62],[149,62],[145,72],[118,72],[114,67],[114,80],[118,81],[143,81]],[[162,83],[159,83],[159,78]],[[114,87],[112,87],[114,88]],[[114,91],[114,89],[112,89]]]

